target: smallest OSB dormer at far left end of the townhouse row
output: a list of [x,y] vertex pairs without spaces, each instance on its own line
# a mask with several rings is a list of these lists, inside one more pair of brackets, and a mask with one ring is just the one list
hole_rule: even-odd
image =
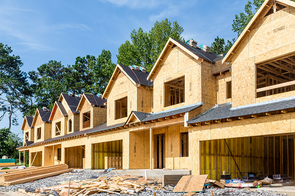
[[24,146],[34,143],[34,127],[32,126],[33,119],[34,118],[32,116],[24,116],[24,121],[22,122]]

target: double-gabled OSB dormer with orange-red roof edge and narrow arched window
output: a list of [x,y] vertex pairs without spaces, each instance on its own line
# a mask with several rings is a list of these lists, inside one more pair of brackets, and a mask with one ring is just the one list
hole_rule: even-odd
[[58,137],[79,130],[79,112],[76,111],[80,102],[79,95],[61,93],[55,101],[49,120],[52,124],[52,136]]

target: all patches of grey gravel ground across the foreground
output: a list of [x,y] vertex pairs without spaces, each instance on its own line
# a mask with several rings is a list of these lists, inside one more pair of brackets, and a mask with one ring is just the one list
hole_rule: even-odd
[[[85,180],[91,176],[106,176],[106,177],[117,177],[121,175],[120,173],[108,172],[108,173],[98,173],[98,172],[90,172],[84,170],[77,170],[76,173],[72,173],[69,175],[57,175],[53,177],[47,177],[40,180],[35,180],[33,182],[27,182],[18,185],[11,185],[7,187],[1,187],[0,191],[7,192],[7,191],[18,191],[19,188],[21,189],[36,189],[40,187],[50,187],[55,185],[60,185],[58,182],[68,181],[68,180]],[[223,188],[217,189],[211,187],[209,189],[203,189],[202,192],[198,193],[198,196],[211,196],[211,190],[213,190],[213,195],[237,195],[237,196],[284,196],[285,193],[278,193],[274,191],[267,191],[267,190],[259,190],[253,189],[252,191],[237,189],[237,188]],[[154,192],[156,192],[157,196],[182,196],[184,193],[173,193],[172,190],[146,190],[142,191],[138,194],[138,196],[153,196]],[[82,194],[80,194],[82,195]],[[110,196],[110,195],[117,195],[117,194],[106,194],[106,193],[99,193],[94,194],[91,196]],[[133,196],[133,195],[125,195],[124,196]],[[287,195],[286,195],[287,196]]]

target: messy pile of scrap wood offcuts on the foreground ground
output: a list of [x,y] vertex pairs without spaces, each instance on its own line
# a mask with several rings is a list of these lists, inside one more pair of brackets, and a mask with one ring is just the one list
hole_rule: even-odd
[[[92,195],[97,192],[106,192],[113,194],[131,194],[138,195],[145,189],[152,188],[153,190],[162,189],[162,184],[157,182],[127,182],[123,177],[106,178],[101,177],[98,179],[86,179],[83,181],[68,181],[61,185],[36,189],[35,193],[25,192],[28,195],[48,195],[54,196],[57,193],[60,196],[77,196],[79,194]],[[24,190],[19,190],[24,192]]]

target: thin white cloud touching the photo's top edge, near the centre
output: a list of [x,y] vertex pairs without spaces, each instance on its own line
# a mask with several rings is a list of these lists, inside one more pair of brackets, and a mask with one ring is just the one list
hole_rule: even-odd
[[160,4],[163,4],[163,1],[160,0],[101,0],[103,2],[110,2],[117,6],[128,6],[131,8],[153,8]]

